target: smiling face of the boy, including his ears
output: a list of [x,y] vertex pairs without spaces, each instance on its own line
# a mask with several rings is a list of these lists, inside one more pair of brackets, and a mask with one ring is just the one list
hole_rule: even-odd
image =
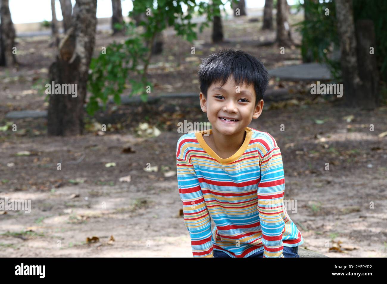
[[[260,116],[264,102],[260,100],[257,107],[254,107],[256,97],[253,85],[237,86],[233,75],[223,87],[220,85],[221,83],[213,83],[208,88],[207,99],[200,93],[200,107],[207,113],[212,128],[220,133],[231,135],[243,131],[253,118],[257,119]],[[225,121],[220,117],[238,121]]]

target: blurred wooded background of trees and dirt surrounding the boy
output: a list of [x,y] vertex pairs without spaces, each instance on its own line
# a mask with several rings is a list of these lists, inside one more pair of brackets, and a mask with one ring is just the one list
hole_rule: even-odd
[[249,126],[281,148],[301,248],[385,257],[386,14],[383,0],[0,0],[0,256],[192,257],[178,125],[208,122],[200,61],[233,48],[269,70]]

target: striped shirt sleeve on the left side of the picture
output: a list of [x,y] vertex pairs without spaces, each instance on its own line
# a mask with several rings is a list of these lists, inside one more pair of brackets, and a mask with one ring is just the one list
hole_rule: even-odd
[[211,241],[211,217],[204,201],[194,166],[176,157],[176,173],[184,223],[191,237],[194,257],[214,257]]

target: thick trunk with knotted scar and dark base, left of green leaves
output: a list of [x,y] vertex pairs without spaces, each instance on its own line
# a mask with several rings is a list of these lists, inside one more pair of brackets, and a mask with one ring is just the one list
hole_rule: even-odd
[[[77,0],[71,27],[60,42],[56,61],[50,66],[50,85],[51,82],[59,84],[61,90],[60,94],[50,92],[48,135],[83,133],[86,85],[97,24],[96,9],[97,0]],[[75,92],[63,92],[69,87]]]

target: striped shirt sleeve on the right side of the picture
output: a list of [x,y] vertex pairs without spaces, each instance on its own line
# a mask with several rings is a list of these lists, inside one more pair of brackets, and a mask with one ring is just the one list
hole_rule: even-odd
[[277,145],[261,159],[258,211],[264,245],[263,257],[284,257],[282,218],[285,178],[281,151]]

